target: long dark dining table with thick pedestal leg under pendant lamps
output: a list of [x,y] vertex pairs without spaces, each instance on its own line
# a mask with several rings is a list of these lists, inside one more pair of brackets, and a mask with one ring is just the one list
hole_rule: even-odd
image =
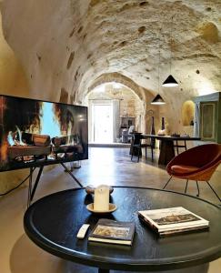
[[158,159],[159,165],[167,165],[169,161],[175,157],[174,141],[200,140],[200,137],[190,137],[190,136],[158,136],[158,135],[143,135],[143,136],[146,138],[156,138],[161,140],[160,154]]

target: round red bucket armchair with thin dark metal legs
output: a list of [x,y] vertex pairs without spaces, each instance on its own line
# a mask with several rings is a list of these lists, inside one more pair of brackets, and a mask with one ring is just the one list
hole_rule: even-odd
[[[214,188],[209,184],[209,179],[212,177],[216,167],[221,163],[221,145],[220,144],[206,144],[190,148],[185,152],[174,157],[166,166],[166,171],[170,178],[166,185],[170,182],[172,177],[186,179],[186,189],[188,180],[196,180],[197,197],[199,196],[198,181],[206,181],[208,186],[216,194]],[[220,197],[216,197],[221,202]]]

